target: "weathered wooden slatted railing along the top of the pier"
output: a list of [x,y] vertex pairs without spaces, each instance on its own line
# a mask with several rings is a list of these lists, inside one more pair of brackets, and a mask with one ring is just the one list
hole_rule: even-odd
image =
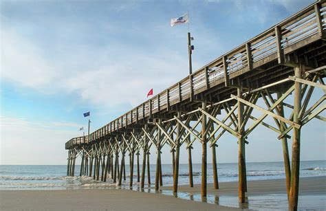
[[193,98],[197,93],[222,83],[228,85],[230,79],[247,71],[254,71],[255,68],[271,60],[277,59],[279,63],[284,63],[285,54],[290,54],[300,47],[325,37],[325,30],[326,3],[313,3],[102,126],[89,137],[72,138],[65,144],[65,148],[94,142],[100,137],[151,117],[163,109],[169,109],[174,104]]

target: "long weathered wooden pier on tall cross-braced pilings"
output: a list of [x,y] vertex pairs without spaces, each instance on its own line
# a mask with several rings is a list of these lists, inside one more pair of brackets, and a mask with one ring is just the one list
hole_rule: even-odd
[[[247,191],[246,144],[250,142],[250,133],[261,124],[279,133],[281,142],[275,144],[283,147],[289,210],[296,210],[301,129],[313,118],[326,120],[320,116],[326,108],[325,31],[326,1],[317,1],[89,136],[69,140],[65,144],[67,175],[74,176],[76,157],[80,156],[80,175],[107,181],[110,174],[113,182],[121,185],[122,179],[126,180],[125,159],[129,155],[130,186],[136,164],[140,187],[144,188],[145,182],[154,182],[158,190],[162,186],[162,148],[168,147],[173,157],[173,192],[176,193],[181,146],[188,151],[189,186],[192,187],[191,155],[192,151],[200,151],[193,148],[193,143],[200,142],[202,197],[206,197],[207,151],[212,151],[214,187],[218,189],[217,142],[224,133],[230,133],[238,143],[239,202],[243,203]],[[323,91],[318,100],[311,98],[316,89]],[[256,104],[259,99],[264,106]],[[284,112],[284,107],[292,112]],[[261,115],[254,117],[253,111]],[[275,126],[264,122],[267,117],[274,119]],[[287,143],[291,138],[292,166]],[[149,175],[151,148],[157,151],[155,181],[150,181]]]

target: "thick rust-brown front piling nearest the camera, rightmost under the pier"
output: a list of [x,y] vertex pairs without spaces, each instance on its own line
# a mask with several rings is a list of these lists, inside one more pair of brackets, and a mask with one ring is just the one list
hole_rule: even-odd
[[[296,78],[302,78],[303,65],[294,67],[294,74]],[[294,110],[293,122],[301,124],[299,113],[301,110],[301,83],[294,82]],[[294,127],[292,136],[292,170],[291,170],[291,183],[290,183],[290,199],[289,210],[298,209],[298,187],[299,187],[299,168],[300,168],[300,142],[301,142],[301,129]]]

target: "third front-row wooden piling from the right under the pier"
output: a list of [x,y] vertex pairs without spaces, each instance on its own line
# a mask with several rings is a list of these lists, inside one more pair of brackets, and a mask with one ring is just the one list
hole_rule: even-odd
[[[202,109],[206,111],[206,101],[202,102]],[[202,197],[207,195],[207,142],[206,142],[206,115],[202,113]]]

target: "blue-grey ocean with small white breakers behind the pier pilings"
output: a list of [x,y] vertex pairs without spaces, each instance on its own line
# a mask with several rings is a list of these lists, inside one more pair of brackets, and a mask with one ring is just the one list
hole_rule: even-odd
[[[151,183],[155,183],[155,164],[151,165]],[[201,182],[201,164],[193,164],[194,184]],[[237,181],[238,165],[236,163],[217,164],[219,181]],[[75,167],[75,177],[67,177],[65,165],[1,165],[0,190],[65,190],[80,188],[110,188],[115,187],[111,179],[107,182],[94,181],[92,177],[79,177],[80,166]],[[134,186],[137,186],[136,170],[134,167]],[[142,170],[140,166],[140,171]],[[188,164],[180,164],[179,184],[188,184]],[[146,171],[147,174],[147,171]],[[303,161],[300,166],[301,177],[326,175],[326,161]],[[129,166],[126,166],[127,180],[122,186],[129,186]],[[172,165],[162,165],[164,186],[172,186]],[[212,164],[208,164],[207,182],[213,182]],[[283,162],[254,162],[247,163],[247,179],[282,179],[285,178]],[[147,182],[147,175],[145,183]]]

